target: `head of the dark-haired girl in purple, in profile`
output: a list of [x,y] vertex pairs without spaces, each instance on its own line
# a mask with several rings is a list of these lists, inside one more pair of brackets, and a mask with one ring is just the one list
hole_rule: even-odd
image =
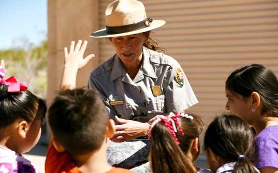
[[[260,64],[246,65],[231,73],[225,83],[228,98],[226,109],[249,124],[247,115],[257,109],[261,114],[268,112],[278,117],[278,80],[268,67]],[[258,100],[262,103],[260,109]]]

